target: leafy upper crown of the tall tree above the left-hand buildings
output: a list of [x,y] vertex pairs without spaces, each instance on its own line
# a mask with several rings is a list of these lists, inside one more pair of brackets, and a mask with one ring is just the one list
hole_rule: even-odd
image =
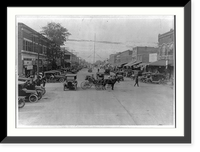
[[68,30],[61,26],[60,23],[51,22],[42,27],[41,34],[51,39],[57,45],[64,45],[64,42],[71,35]]

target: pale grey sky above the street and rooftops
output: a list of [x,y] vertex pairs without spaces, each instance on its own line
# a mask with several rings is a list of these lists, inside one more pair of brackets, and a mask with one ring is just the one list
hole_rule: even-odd
[[121,43],[65,43],[65,47],[74,50],[79,57],[89,62],[94,59],[94,50],[96,60],[105,60],[110,54],[134,46],[157,46],[158,34],[174,28],[173,16],[18,16],[17,22],[22,22],[37,32],[47,23],[56,22],[68,29],[71,33],[69,39]]

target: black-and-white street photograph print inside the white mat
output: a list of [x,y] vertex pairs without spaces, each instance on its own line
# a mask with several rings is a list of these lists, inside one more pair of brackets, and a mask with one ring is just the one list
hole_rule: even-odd
[[17,15],[17,128],[175,128],[174,15]]

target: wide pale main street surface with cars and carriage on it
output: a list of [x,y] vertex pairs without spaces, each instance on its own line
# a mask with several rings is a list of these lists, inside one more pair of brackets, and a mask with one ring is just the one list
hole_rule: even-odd
[[134,87],[135,82],[125,78],[111,91],[82,90],[87,74],[91,74],[87,69],[78,72],[76,91],[63,91],[62,83],[47,83],[41,100],[18,109],[18,127],[174,124],[174,93],[169,85]]

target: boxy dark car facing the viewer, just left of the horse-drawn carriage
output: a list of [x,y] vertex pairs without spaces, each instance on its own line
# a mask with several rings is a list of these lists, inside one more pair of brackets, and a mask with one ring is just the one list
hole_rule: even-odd
[[63,90],[77,90],[78,82],[77,82],[76,74],[66,74],[65,81],[63,83]]

